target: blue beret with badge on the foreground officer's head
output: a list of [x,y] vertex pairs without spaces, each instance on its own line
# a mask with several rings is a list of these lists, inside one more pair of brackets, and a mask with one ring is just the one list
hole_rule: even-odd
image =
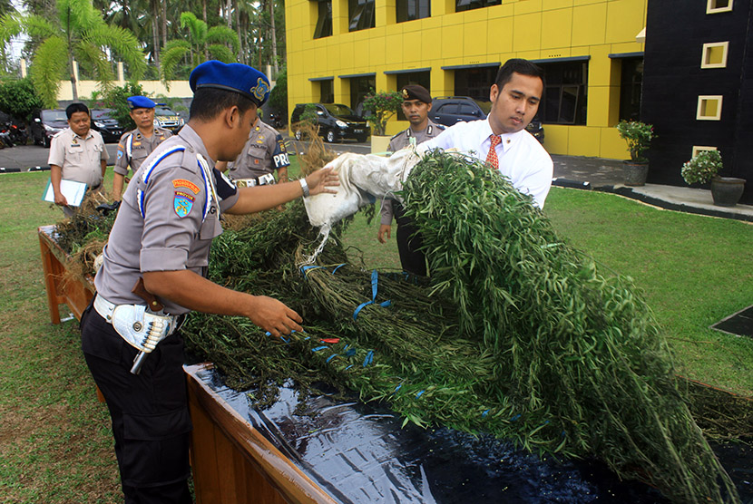
[[269,98],[267,76],[246,64],[222,63],[216,60],[201,63],[189,78],[191,91],[200,88],[217,88],[240,92],[258,107]]

